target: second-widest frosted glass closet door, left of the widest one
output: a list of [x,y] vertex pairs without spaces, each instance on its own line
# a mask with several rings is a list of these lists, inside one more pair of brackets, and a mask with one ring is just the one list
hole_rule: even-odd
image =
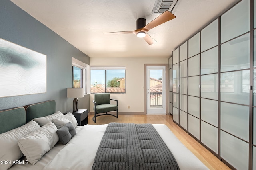
[[201,51],[204,51],[201,53],[201,142],[216,154],[218,154],[218,74],[216,74],[218,47],[215,47],[217,45],[218,20],[215,20],[201,31]]

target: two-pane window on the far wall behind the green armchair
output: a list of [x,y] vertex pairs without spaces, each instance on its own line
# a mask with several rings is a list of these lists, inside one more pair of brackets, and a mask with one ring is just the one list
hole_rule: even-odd
[[91,67],[91,93],[125,93],[125,68]]

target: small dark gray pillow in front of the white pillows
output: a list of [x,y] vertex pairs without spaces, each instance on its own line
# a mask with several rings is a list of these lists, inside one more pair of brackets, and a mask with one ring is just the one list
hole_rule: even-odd
[[66,125],[58,129],[57,134],[60,138],[60,141],[63,145],[66,145],[68,141],[76,135],[76,129],[71,122],[68,122]]

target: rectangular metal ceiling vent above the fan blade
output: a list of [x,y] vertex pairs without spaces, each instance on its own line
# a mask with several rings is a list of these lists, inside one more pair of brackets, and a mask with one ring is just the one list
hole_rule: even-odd
[[156,0],[152,14],[154,13],[163,13],[166,10],[172,12],[176,2],[178,0]]

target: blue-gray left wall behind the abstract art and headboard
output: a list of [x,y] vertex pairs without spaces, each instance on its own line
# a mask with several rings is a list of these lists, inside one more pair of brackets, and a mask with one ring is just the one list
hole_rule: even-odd
[[[0,98],[0,110],[45,100],[55,100],[58,111],[72,109],[73,99],[67,98],[66,90],[72,87],[72,57],[86,64],[90,57],[10,0],[1,0],[0,38],[47,56],[46,93]],[[90,111],[89,99],[90,95],[79,98],[79,108]]]

